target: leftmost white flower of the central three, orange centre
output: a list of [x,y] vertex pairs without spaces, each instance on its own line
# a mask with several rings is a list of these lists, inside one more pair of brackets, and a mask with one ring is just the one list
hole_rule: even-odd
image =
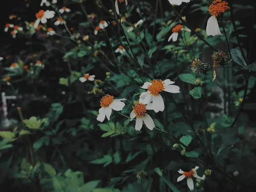
[[125,106],[125,103],[121,101],[126,101],[126,99],[113,99],[113,96],[108,94],[103,96],[100,102],[100,106],[102,108],[99,109],[97,120],[103,122],[105,117],[107,117],[107,119],[109,120],[112,109],[114,111],[121,111]]

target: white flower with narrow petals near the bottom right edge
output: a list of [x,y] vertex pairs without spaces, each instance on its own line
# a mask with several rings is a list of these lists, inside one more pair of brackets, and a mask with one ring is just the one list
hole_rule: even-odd
[[180,177],[177,178],[177,182],[183,180],[184,178],[187,178],[187,184],[188,184],[188,187],[190,190],[193,190],[194,189],[194,183],[193,183],[193,180],[192,180],[192,177],[195,177],[195,178],[198,178],[198,179],[201,179],[201,180],[204,180],[205,178],[205,175],[203,175],[203,177],[199,177],[197,175],[197,172],[196,170],[198,169],[199,167],[196,166],[194,169],[191,169],[191,171],[189,172],[183,172],[181,169],[178,171],[180,174]]

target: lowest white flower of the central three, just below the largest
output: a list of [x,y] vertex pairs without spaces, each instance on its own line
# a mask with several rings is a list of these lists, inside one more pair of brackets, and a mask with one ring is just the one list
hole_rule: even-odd
[[136,122],[135,122],[135,130],[140,131],[142,128],[143,122],[145,123],[146,127],[149,130],[153,130],[155,127],[154,121],[151,118],[151,116],[148,115],[147,110],[152,110],[153,105],[145,105],[140,102],[136,102],[136,104],[132,107],[133,111],[131,111],[130,118],[131,120],[136,117]]

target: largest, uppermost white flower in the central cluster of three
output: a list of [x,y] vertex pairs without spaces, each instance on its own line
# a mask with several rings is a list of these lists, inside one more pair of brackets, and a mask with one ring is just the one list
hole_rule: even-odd
[[174,83],[175,82],[171,81],[170,79],[166,79],[164,81],[160,79],[154,79],[151,83],[145,82],[141,88],[148,89],[148,91],[140,94],[139,102],[143,104],[149,104],[153,102],[153,109],[156,113],[163,111],[164,102],[160,93],[162,91],[169,93],[180,93],[180,87],[177,85],[171,85]]

